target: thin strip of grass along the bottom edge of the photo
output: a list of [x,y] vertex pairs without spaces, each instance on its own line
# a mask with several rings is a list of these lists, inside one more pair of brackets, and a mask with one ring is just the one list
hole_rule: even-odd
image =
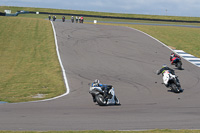
[[0,133],[200,133],[200,130],[147,130],[147,131],[0,131]]

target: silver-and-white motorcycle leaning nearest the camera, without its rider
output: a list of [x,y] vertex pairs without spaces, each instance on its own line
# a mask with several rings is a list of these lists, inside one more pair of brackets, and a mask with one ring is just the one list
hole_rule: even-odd
[[115,95],[114,88],[112,87],[108,94],[105,96],[105,91],[101,87],[90,87],[89,93],[92,95],[94,102],[100,106],[106,105],[120,105],[119,99]]

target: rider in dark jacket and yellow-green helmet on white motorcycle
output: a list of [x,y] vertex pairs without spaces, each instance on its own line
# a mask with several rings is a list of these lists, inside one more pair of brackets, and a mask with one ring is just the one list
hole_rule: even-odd
[[162,73],[163,82],[164,82],[166,87],[169,87],[169,84],[168,84],[169,78],[167,78],[168,77],[168,73],[171,73],[171,74],[175,75],[174,70],[169,68],[169,67],[167,67],[167,65],[164,64],[160,70],[157,70],[156,73],[157,73],[157,75]]

